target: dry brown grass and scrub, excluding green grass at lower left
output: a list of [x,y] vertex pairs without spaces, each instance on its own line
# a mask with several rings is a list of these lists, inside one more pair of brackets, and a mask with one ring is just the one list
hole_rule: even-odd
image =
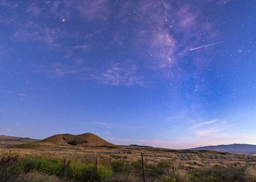
[[[73,146],[59,142],[26,142],[0,141],[0,158],[47,157],[57,159],[60,162],[58,164],[62,164],[68,157],[72,171],[69,173],[75,173],[74,166],[77,164],[93,166],[95,155],[99,159],[99,165],[105,167],[102,171],[107,173],[110,170],[107,174],[111,173],[108,178],[107,175],[105,178],[103,176],[102,181],[142,181],[140,154],[143,153],[146,181],[256,181],[256,157],[250,155],[158,149],[148,146],[103,147]],[[26,179],[47,178],[49,181],[55,181],[50,179],[61,178],[62,181],[76,181],[74,176],[70,177],[64,173],[42,173],[44,171],[38,169],[21,171],[15,178],[21,178],[21,175]]]

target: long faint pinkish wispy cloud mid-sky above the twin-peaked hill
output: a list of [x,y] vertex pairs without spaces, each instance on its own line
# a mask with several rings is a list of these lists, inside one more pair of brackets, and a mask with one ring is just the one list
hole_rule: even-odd
[[143,87],[143,78],[137,76],[137,67],[128,60],[124,63],[109,63],[102,69],[90,68],[89,66],[67,65],[64,63],[53,63],[51,66],[36,66],[37,71],[50,77],[64,78],[75,76],[79,80],[94,80],[102,84],[113,86]]

